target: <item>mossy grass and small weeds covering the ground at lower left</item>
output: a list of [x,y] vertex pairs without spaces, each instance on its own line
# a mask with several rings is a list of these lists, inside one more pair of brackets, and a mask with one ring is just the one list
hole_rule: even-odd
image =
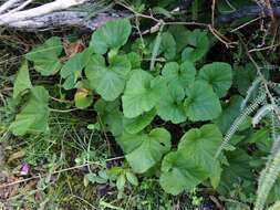
[[[128,165],[123,164],[120,148],[87,128],[89,116],[54,113],[49,118],[48,134],[14,138],[8,130],[18,108],[8,97],[3,102],[6,105],[0,109],[1,185],[17,181],[23,162],[30,165],[31,172],[22,179],[33,179],[2,188],[13,193],[1,197],[1,208],[146,210],[172,209],[177,202],[186,208],[203,208],[208,203],[208,199],[197,192],[173,198],[151,176],[142,177],[135,187],[138,180]],[[58,104],[51,102],[50,105]],[[72,169],[73,166],[77,167]],[[110,168],[112,172],[126,171],[125,176],[134,183],[125,183],[124,195],[117,190],[116,178],[108,179]]]

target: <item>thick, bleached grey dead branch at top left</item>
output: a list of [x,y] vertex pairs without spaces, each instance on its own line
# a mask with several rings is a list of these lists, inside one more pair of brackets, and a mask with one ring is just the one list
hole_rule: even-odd
[[84,3],[91,6],[95,0],[54,0],[35,8],[30,7],[32,2],[33,0],[4,2],[0,6],[0,25],[31,32],[65,27],[95,30],[110,20],[127,17],[127,13],[115,10],[97,13],[94,17],[87,12],[69,10]]

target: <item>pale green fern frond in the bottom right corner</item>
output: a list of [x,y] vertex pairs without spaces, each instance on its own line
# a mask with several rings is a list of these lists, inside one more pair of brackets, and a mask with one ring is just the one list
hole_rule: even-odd
[[268,195],[280,172],[280,150],[261,172],[253,210],[263,210]]

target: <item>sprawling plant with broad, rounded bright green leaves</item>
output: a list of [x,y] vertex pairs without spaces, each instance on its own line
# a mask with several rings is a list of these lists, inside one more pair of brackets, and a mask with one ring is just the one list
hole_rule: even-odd
[[[184,60],[176,60],[176,38],[172,30],[167,30],[160,33],[159,48],[154,56],[164,56],[170,62],[157,72],[145,71],[142,69],[143,54],[126,53],[122,49],[131,31],[128,20],[108,22],[93,33],[87,49],[74,54],[64,64],[59,62],[62,53],[59,38],[46,40],[43,45],[28,53],[27,59],[44,76],[60,71],[65,92],[76,90],[72,99],[77,108],[86,109],[94,104],[97,116],[94,127],[115,136],[134,172],[153,171],[162,165],[160,185],[167,192],[175,195],[184,189],[190,190],[211,177],[211,169],[218,167],[218,162],[212,166],[212,157],[221,134],[215,125],[194,128],[184,135],[178,150],[168,154],[172,136],[166,128],[156,124],[154,127],[153,122],[157,116],[173,124],[217,118],[221,113],[219,97],[231,85],[231,67],[217,62],[203,66],[197,73],[194,62],[207,52],[208,39],[203,31],[189,32],[185,29],[188,35],[186,48],[189,50],[183,53]],[[41,53],[45,48],[50,48],[50,51]],[[48,65],[50,63],[53,65]],[[222,77],[218,76],[220,72],[224,72]],[[19,74],[24,85],[19,88],[17,78],[15,95],[31,88],[31,96],[27,106],[17,115],[11,129],[15,135],[32,130],[48,132],[48,92],[43,87],[30,87],[27,64],[23,64]],[[41,111],[38,112],[35,106]],[[180,177],[180,183],[187,182],[169,186],[176,181],[176,176]],[[128,177],[132,179],[132,176]],[[123,186],[123,180],[122,175],[117,181],[118,188]]]

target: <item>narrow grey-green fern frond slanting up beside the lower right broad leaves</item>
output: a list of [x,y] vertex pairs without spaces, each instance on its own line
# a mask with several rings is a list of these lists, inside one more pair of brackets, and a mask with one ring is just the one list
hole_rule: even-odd
[[215,158],[218,158],[220,155],[221,150],[225,149],[230,140],[230,138],[235,135],[235,133],[238,130],[239,126],[245,122],[246,117],[252,114],[261,103],[266,99],[266,94],[261,93],[255,101],[247,107],[245,108],[241,114],[235,119],[232,125],[230,126],[229,130],[227,132],[222,144],[218,148]]

